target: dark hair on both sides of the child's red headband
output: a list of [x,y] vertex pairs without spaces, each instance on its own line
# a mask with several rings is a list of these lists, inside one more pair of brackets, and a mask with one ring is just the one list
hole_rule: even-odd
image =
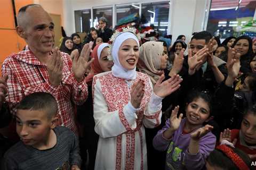
[[[241,159],[243,159],[244,163],[249,167],[249,169],[253,169],[251,166],[252,160],[245,154],[243,151],[237,148],[230,148],[235,154],[237,154]],[[221,150],[214,149],[209,157],[207,158],[208,164],[213,167],[220,167],[225,170],[239,170],[239,168],[234,164],[234,162],[227,157]]]

